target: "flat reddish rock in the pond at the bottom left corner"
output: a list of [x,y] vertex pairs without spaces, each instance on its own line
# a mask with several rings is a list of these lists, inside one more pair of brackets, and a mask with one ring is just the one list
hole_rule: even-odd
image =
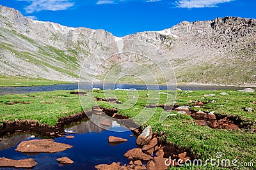
[[16,167],[16,168],[33,168],[37,165],[34,159],[13,160],[8,158],[0,158],[0,167]]

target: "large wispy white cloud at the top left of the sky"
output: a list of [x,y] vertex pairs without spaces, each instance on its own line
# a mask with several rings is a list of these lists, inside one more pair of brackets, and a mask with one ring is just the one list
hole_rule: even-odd
[[68,8],[74,6],[74,3],[70,0],[19,0],[27,1],[31,3],[29,6],[26,6],[26,13],[34,13],[35,11],[60,11],[67,10]]

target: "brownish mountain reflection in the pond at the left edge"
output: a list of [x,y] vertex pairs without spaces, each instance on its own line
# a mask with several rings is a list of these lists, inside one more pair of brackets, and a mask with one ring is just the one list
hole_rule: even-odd
[[10,139],[0,141],[0,150],[6,150],[8,148],[12,148],[16,146],[20,141],[24,139],[29,139],[30,137],[31,136],[29,134],[16,135],[16,136],[12,136]]

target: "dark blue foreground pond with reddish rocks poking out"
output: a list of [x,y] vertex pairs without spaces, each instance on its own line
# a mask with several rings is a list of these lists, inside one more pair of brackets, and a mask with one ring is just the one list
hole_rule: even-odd
[[[97,121],[108,118],[105,115],[92,115],[92,117]],[[33,134],[17,134],[7,140],[0,141],[0,157],[15,160],[33,158],[38,162],[38,165],[33,169],[95,169],[94,166],[98,164],[111,164],[112,162],[129,164],[129,159],[124,157],[124,153],[136,148],[136,138],[134,136],[130,137],[130,135],[133,135],[131,131],[115,132],[127,130],[127,127],[117,122],[113,122],[111,126],[107,127],[106,129],[108,130],[98,127],[90,120],[65,128],[66,132],[71,133],[65,136],[72,135],[74,138],[69,139],[63,136],[54,138],[54,141],[72,145],[73,148],[58,153],[26,155],[15,151],[17,145],[24,140],[40,138],[36,138],[36,135],[34,136]],[[108,143],[109,136],[125,138],[128,141],[118,145],[111,145],[111,143]],[[60,157],[68,157],[74,161],[74,164],[63,166],[56,161]]]

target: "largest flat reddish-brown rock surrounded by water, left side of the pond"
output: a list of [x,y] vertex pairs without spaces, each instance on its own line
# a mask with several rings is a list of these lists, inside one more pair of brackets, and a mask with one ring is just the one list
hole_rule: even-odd
[[51,139],[34,139],[31,141],[22,141],[15,151],[23,153],[40,153],[40,152],[61,152],[72,148],[73,146],[67,145],[65,143],[57,143]]

